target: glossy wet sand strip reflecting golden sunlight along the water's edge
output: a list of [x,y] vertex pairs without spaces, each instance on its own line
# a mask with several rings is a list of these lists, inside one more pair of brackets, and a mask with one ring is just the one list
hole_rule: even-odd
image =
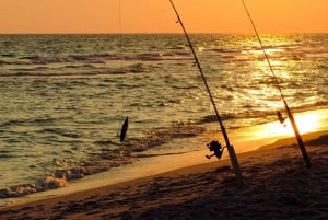
[[[297,119],[301,119],[303,116],[307,116],[308,114],[317,114],[320,115],[319,119],[326,121],[328,109],[312,109],[303,113],[295,114]],[[302,125],[301,125],[302,126]],[[321,123],[317,125],[316,129],[327,129],[328,125]],[[302,128],[302,127],[301,127]],[[325,129],[325,130],[326,130]],[[323,134],[325,130],[316,131],[317,134]],[[274,135],[272,135],[274,134]],[[169,144],[179,146],[186,144],[203,144],[204,148],[198,151],[191,151],[188,153],[181,154],[167,154],[167,155],[159,155],[159,157],[147,157],[152,155],[152,150],[142,152],[145,157],[139,158],[132,164],[114,167],[109,171],[96,173],[93,175],[84,176],[83,178],[72,180],[68,186],[55,188],[45,192],[38,192],[35,194],[28,194],[22,197],[10,197],[0,199],[0,209],[11,206],[16,206],[21,204],[27,204],[31,201],[40,200],[44,198],[54,198],[58,196],[66,196],[79,192],[85,192],[98,187],[104,187],[108,185],[120,184],[129,181],[133,181],[137,178],[143,178],[147,176],[157,175],[161,173],[166,173],[171,171],[175,171],[178,169],[189,167],[194,165],[208,164],[211,162],[216,162],[216,159],[207,160],[204,158],[206,154],[212,153],[206,147],[206,143],[209,140],[213,140],[213,138],[218,138],[221,136],[220,131],[208,134],[208,136],[202,137],[198,140],[190,141],[192,138],[179,138]],[[308,136],[308,135],[302,135]],[[289,138],[290,137],[290,138]],[[233,140],[233,144],[237,154],[237,158],[243,157],[243,154],[253,153],[257,150],[261,149],[263,146],[269,146],[271,143],[274,144],[274,141],[285,141],[285,139],[291,139],[292,141],[296,141],[293,138],[293,134],[290,130],[289,126],[282,126],[278,121],[267,123],[257,126],[251,126],[247,128],[235,129],[230,132],[230,138]],[[307,138],[307,137],[306,137]],[[137,155],[138,158],[138,155]],[[229,160],[227,152],[223,153],[221,161]],[[221,162],[219,161],[219,162]],[[243,167],[242,167],[243,169]]]

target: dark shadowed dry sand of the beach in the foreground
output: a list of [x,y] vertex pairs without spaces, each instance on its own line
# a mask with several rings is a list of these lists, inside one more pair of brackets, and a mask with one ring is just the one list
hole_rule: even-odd
[[328,131],[304,135],[312,169],[294,138],[229,160],[0,209],[0,219],[328,219]]

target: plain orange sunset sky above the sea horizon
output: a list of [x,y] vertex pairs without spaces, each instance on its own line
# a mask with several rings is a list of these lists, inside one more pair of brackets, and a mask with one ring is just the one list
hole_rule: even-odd
[[[261,33],[328,33],[328,0],[245,2]],[[174,0],[174,3],[190,33],[253,33],[241,0]],[[181,33],[175,21],[169,0],[0,2],[0,34]]]

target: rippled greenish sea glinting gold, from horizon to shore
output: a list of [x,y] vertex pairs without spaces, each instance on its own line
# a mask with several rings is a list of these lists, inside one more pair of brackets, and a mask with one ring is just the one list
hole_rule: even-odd
[[[254,35],[190,38],[227,132],[277,120],[284,106]],[[327,108],[328,34],[261,38],[292,111]],[[198,151],[207,142],[165,143],[220,130],[180,34],[0,35],[0,198]]]

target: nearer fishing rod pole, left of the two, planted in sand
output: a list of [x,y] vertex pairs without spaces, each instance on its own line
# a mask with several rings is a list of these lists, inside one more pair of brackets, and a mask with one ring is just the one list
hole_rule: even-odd
[[173,8],[173,10],[174,10],[174,12],[175,12],[177,19],[178,19],[177,22],[180,24],[180,26],[181,26],[181,28],[183,28],[183,31],[184,31],[184,34],[185,34],[185,36],[186,36],[186,38],[187,38],[187,42],[188,42],[188,45],[189,45],[189,47],[190,47],[190,49],[191,49],[191,53],[192,53],[192,55],[194,55],[194,59],[195,59],[195,61],[196,61],[196,66],[198,67],[198,70],[199,70],[200,76],[201,76],[201,78],[202,78],[202,81],[203,81],[203,83],[204,83],[204,85],[206,85],[207,92],[208,92],[208,94],[209,94],[209,96],[210,96],[210,100],[211,100],[213,109],[214,109],[214,112],[215,112],[216,119],[218,119],[218,121],[219,121],[219,124],[220,124],[221,131],[222,131],[222,135],[223,135],[224,140],[225,140],[226,149],[227,149],[227,151],[229,151],[229,155],[230,155],[230,159],[231,159],[231,162],[232,162],[234,172],[235,172],[235,176],[236,176],[236,178],[237,178],[241,183],[243,183],[242,172],[241,172],[239,163],[238,163],[238,160],[237,160],[237,157],[236,157],[234,147],[230,143],[227,134],[226,134],[225,128],[224,128],[224,125],[223,125],[223,123],[222,123],[222,120],[221,120],[221,117],[220,117],[219,111],[218,111],[218,108],[216,108],[216,105],[215,105],[213,95],[212,95],[212,93],[211,93],[211,90],[210,90],[210,86],[209,86],[208,81],[207,81],[207,79],[206,79],[206,76],[203,74],[203,71],[202,71],[202,68],[201,68],[201,66],[200,66],[199,59],[198,59],[198,57],[197,57],[197,54],[196,54],[196,51],[195,51],[195,49],[194,49],[194,46],[192,46],[191,40],[190,40],[190,38],[189,38],[189,35],[188,35],[188,33],[187,33],[187,31],[186,31],[186,28],[185,28],[185,25],[184,25],[184,23],[183,23],[183,20],[181,20],[180,16],[179,16],[178,11],[176,10],[176,8],[175,8],[173,1],[169,0],[169,2],[171,2],[171,5],[172,5],[172,8]]

